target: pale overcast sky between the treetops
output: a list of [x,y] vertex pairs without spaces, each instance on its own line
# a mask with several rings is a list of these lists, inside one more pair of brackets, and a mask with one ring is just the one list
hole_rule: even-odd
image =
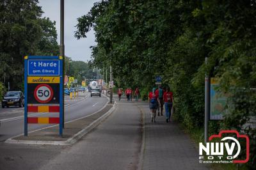
[[[64,13],[64,43],[65,56],[75,61],[90,60],[90,46],[96,45],[94,31],[86,34],[87,38],[77,40],[74,37],[76,31],[77,18],[86,15],[93,6],[93,3],[99,0],[65,0]],[[56,21],[58,33],[58,44],[60,44],[60,0],[39,0],[39,6],[42,6],[44,14],[42,17],[49,17]]]

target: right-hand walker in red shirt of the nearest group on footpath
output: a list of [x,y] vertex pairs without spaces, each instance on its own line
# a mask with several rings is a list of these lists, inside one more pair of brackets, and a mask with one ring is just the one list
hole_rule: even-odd
[[168,122],[170,121],[170,118],[171,118],[171,110],[172,110],[172,104],[173,104],[173,93],[172,91],[170,91],[169,87],[166,88],[163,99],[164,99],[166,122]]

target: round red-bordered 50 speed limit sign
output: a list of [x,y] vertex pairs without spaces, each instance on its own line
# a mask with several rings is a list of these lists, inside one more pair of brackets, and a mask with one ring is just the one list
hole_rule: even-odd
[[35,88],[34,97],[37,102],[45,104],[52,100],[53,90],[48,84],[39,84]]

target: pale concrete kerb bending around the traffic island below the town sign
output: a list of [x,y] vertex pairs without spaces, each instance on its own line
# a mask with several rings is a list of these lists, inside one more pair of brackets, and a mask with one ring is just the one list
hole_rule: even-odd
[[[106,104],[107,105],[107,104]],[[74,134],[72,137],[68,138],[66,141],[25,141],[25,140],[15,140],[13,138],[20,136],[17,135],[15,137],[12,137],[10,139],[7,139],[4,141],[4,143],[12,143],[12,144],[51,144],[51,145],[70,145],[76,143],[81,137],[88,134],[93,128],[97,127],[102,121],[104,121],[108,116],[115,111],[116,109],[116,102],[113,105],[111,109],[109,109],[108,112],[104,113],[102,116],[100,116],[97,120],[93,121],[88,125],[87,127],[83,128],[76,134]],[[101,110],[101,109],[100,109]],[[50,127],[47,127],[50,128]]]

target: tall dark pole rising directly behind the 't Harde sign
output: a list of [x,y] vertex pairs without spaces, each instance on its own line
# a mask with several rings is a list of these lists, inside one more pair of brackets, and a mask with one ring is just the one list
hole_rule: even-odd
[[[65,77],[65,45],[64,45],[64,0],[60,0],[60,56],[63,58],[63,86]],[[64,93],[62,92],[62,127],[64,128]],[[61,122],[60,122],[61,123]]]

